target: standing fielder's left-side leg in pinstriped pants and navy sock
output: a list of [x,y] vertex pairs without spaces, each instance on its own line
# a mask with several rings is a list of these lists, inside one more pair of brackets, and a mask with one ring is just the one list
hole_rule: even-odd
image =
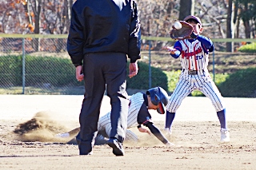
[[182,101],[185,97],[187,97],[192,92],[192,85],[190,81],[186,81],[185,79],[180,79],[176,88],[174,89],[174,93],[171,94],[170,100],[166,105],[166,125],[165,130],[167,132],[171,132],[171,126],[174,121],[174,117],[177,109],[182,104]]

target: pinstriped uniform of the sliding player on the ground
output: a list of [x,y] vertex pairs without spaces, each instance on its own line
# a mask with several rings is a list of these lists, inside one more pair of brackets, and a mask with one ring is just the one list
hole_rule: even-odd
[[[145,93],[136,93],[130,97],[130,105],[128,109],[128,118],[127,118],[127,128],[131,128],[137,125],[142,125],[147,121],[151,121],[150,113],[143,112],[139,113],[142,107],[145,105]],[[98,121],[98,131],[106,129],[106,134],[110,136],[111,122],[110,122],[110,113],[106,113],[103,117],[100,117]],[[131,132],[129,129],[126,130],[126,140],[138,140],[138,136]]]

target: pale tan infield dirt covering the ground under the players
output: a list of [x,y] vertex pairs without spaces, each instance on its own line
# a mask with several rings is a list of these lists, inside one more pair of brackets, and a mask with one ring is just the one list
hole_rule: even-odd
[[[66,103],[68,98],[73,101],[70,105]],[[181,147],[166,148],[155,136],[132,128],[139,142],[126,141],[125,156],[114,156],[107,145],[94,146],[91,156],[79,156],[77,145],[66,144],[70,139],[54,138],[57,132],[78,126],[80,96],[6,95],[0,99],[0,169],[256,169],[253,98],[225,99],[229,108],[229,143],[219,142],[218,118],[208,99],[187,97],[174,121],[173,133],[167,136]],[[204,104],[202,108],[198,108],[200,103]],[[107,99],[102,107],[110,109]],[[152,117],[162,130],[164,117],[155,112]],[[25,122],[30,126],[22,126]]]

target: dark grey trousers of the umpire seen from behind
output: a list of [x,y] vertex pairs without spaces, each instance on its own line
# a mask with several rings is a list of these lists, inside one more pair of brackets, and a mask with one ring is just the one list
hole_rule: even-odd
[[87,53],[83,59],[86,93],[79,117],[77,136],[80,155],[88,154],[94,146],[98,117],[105,93],[110,97],[110,137],[123,141],[126,135],[128,95],[126,93],[126,53]]

